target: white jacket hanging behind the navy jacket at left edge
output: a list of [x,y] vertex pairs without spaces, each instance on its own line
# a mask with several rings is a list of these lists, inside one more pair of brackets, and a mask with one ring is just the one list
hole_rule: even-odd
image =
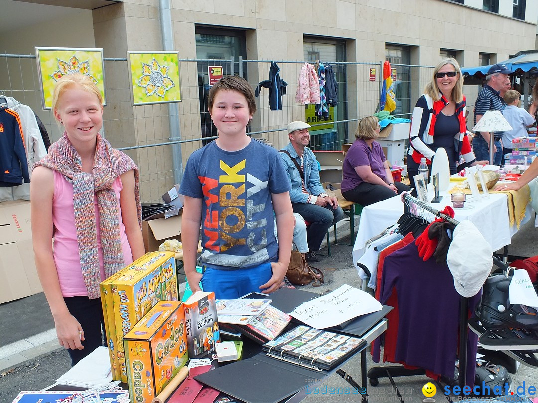
[[[26,165],[31,178],[33,164],[47,155],[45,142],[37,124],[36,114],[29,106],[21,104],[17,99],[12,97],[4,98],[7,102],[4,105],[7,105],[11,111],[17,113],[19,116],[24,147],[26,149]],[[0,203],[8,200],[30,200],[30,184],[20,183],[22,182],[19,182],[19,185],[13,186],[13,188],[0,188]]]

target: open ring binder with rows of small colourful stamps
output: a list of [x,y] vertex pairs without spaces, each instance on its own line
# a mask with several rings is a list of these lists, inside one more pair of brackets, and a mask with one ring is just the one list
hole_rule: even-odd
[[261,349],[270,357],[316,370],[330,370],[366,345],[366,340],[299,326]]

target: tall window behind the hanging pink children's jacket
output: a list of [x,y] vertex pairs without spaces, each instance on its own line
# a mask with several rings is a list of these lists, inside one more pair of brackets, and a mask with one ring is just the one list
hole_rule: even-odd
[[[329,62],[334,71],[338,84],[338,105],[332,109],[331,118],[334,121],[348,118],[348,88],[346,85],[346,65],[334,62],[345,62],[345,41],[328,38],[305,37],[303,41],[305,60],[314,62]],[[313,107],[313,106],[309,106]],[[309,112],[307,112],[309,113]],[[329,110],[330,114],[330,110]],[[342,144],[348,140],[348,124],[337,123],[330,128],[310,129],[310,148],[314,150],[342,149]]]

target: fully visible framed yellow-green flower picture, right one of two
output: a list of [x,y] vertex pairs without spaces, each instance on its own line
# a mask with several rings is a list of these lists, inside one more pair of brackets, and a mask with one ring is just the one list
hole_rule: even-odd
[[133,106],[181,102],[179,52],[127,52]]

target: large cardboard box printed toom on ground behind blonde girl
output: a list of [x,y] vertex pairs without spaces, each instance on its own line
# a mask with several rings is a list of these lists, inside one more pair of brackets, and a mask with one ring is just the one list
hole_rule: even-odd
[[30,202],[0,204],[0,304],[43,291],[34,261]]

